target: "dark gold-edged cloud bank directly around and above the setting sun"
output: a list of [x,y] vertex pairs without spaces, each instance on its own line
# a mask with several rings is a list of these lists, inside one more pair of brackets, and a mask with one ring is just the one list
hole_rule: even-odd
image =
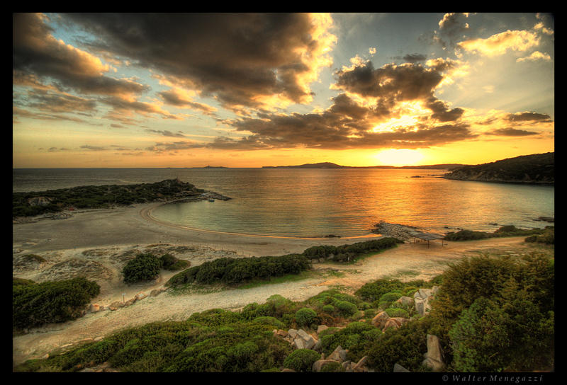
[[[347,91],[332,99],[321,113],[258,114],[229,122],[240,139],[221,137],[210,143],[218,149],[308,147],[353,149],[381,146],[426,147],[476,137],[463,122],[461,108],[434,96],[450,62],[386,64],[371,62],[337,71],[336,89]],[[421,115],[409,117],[418,112]],[[439,123],[444,123],[439,125]],[[384,126],[385,125],[385,126]],[[383,127],[384,126],[384,127]],[[380,127],[380,130],[377,130]]]

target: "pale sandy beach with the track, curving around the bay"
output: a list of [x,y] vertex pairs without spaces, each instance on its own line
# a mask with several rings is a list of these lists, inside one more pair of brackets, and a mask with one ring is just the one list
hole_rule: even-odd
[[[108,306],[113,301],[150,294],[162,288],[175,272],[164,272],[152,282],[125,285],[120,270],[135,253],[169,252],[199,265],[223,256],[284,255],[301,253],[310,246],[342,245],[365,239],[292,239],[246,236],[188,229],[164,224],[151,217],[157,204],[74,212],[67,219],[40,219],[13,224],[13,276],[42,282],[87,275],[101,286],[92,303]],[[302,301],[332,287],[354,292],[364,283],[390,277],[417,279],[439,275],[447,264],[479,251],[520,253],[531,248],[523,237],[430,244],[406,242],[397,248],[365,258],[354,265],[317,263],[312,278],[298,282],[262,285],[251,289],[173,295],[170,291],[135,301],[116,311],[87,313],[66,323],[34,328],[13,338],[13,364],[43,357],[57,347],[101,338],[121,328],[152,321],[186,319],[196,311],[213,308],[241,309],[262,303],[273,294]],[[40,255],[45,262],[26,264],[22,255]],[[342,274],[337,275],[337,272]]]

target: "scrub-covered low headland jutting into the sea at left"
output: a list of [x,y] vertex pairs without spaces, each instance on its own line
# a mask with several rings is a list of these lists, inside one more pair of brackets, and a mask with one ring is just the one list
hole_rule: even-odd
[[[13,193],[12,217],[30,217],[61,212],[64,209],[99,209],[135,203],[198,200],[203,193],[206,191],[178,179],[135,185],[89,185],[42,192]],[[217,199],[228,199],[214,195]]]

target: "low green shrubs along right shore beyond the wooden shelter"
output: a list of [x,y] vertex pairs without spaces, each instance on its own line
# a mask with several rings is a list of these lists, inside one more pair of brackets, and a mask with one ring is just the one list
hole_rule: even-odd
[[493,233],[485,231],[459,230],[445,234],[446,241],[472,241],[475,239],[500,238],[505,236],[526,236],[527,242],[550,243],[555,242],[555,227],[546,226],[544,229],[518,229],[516,226],[502,226]]

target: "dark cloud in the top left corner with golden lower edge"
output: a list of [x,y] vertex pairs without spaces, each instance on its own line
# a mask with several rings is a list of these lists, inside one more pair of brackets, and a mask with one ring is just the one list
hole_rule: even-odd
[[123,96],[147,91],[147,86],[127,79],[114,79],[103,73],[109,67],[82,50],[66,45],[52,36],[38,13],[13,14],[14,76],[28,76],[43,83],[52,79],[60,90]]

